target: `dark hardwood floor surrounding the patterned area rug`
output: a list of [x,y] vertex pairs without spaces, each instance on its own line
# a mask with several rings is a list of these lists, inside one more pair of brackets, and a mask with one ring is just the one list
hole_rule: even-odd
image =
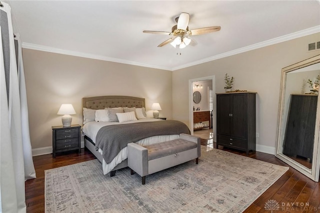
[[[212,140],[207,142],[202,140],[202,145],[215,147],[215,144],[210,141]],[[242,151],[222,146],[219,148],[245,156],[245,152]],[[248,157],[287,166],[274,155],[263,152],[250,152]],[[56,158],[52,158],[51,154],[34,156],[36,178],[25,181],[27,212],[44,212],[44,170],[91,159],[94,159],[94,156],[83,148],[80,153],[74,151],[57,153]],[[320,183],[312,181],[290,167],[244,212],[271,212],[264,208],[268,200],[275,200],[279,204],[279,209],[273,212],[320,212]]]

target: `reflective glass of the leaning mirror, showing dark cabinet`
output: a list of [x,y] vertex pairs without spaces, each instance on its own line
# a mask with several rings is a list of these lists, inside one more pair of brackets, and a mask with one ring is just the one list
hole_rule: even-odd
[[313,64],[287,72],[284,79],[279,152],[307,168],[312,167],[318,67],[318,64]]

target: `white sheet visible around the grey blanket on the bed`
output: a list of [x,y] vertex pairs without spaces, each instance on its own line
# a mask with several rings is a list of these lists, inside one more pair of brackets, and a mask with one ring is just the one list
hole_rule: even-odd
[[[91,138],[93,143],[95,143],[95,137],[98,132],[98,130],[105,125],[117,125],[117,124],[124,124],[124,123],[136,123],[136,122],[151,122],[151,121],[158,121],[161,119],[156,118],[142,118],[139,120],[132,120],[132,121],[126,121],[126,122],[97,122],[97,121],[91,121],[87,122],[82,127],[82,132]],[[179,138],[178,134],[172,134],[172,135],[156,135],[152,137],[147,137],[144,139],[141,139],[137,141],[136,143],[139,145],[149,145],[154,144],[158,142],[163,142],[167,140],[173,140]],[[102,155],[102,149],[99,148],[99,152]],[[122,162],[127,158],[127,147],[125,146],[121,151],[113,158],[113,160],[110,163],[106,163],[104,159],[102,159],[102,170],[103,174],[109,173],[117,164]]]

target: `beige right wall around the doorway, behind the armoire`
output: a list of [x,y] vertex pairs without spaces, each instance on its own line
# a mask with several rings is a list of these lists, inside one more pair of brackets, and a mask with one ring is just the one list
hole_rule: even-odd
[[234,89],[257,92],[257,144],[274,147],[281,68],[319,54],[320,51],[307,52],[307,44],[319,37],[320,33],[315,33],[173,71],[173,118],[189,125],[189,79],[214,75],[215,92],[224,92],[224,74],[228,73],[234,77]]

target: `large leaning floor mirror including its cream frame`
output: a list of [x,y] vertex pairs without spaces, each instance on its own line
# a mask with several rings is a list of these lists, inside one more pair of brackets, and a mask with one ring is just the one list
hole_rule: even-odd
[[320,55],[282,68],[275,156],[319,180]]

